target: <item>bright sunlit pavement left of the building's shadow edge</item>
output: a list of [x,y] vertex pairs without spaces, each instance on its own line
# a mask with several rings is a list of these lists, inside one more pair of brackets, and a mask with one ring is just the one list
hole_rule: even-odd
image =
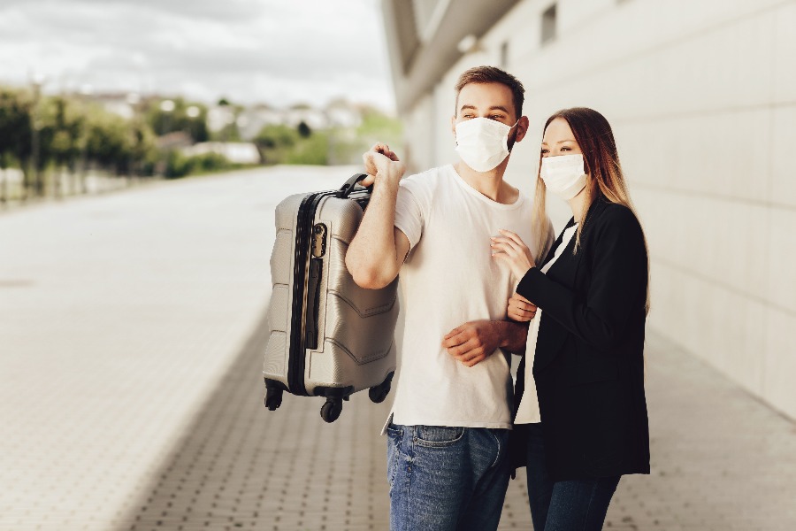
[[0,528],[119,525],[256,327],[275,205],[352,172],[256,169],[0,212]]

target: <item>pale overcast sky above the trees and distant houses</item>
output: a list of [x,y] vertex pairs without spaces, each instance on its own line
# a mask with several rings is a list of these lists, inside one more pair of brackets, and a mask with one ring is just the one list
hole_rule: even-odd
[[0,84],[394,109],[379,0],[0,0]]

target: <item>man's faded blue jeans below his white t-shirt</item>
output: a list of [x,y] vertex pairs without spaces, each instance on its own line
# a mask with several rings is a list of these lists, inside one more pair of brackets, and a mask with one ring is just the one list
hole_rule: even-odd
[[390,423],[390,529],[497,529],[509,487],[508,442],[506,429]]

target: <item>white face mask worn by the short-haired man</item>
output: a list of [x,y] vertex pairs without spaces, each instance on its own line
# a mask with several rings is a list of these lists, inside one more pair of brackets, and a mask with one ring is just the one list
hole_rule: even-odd
[[466,119],[457,123],[456,151],[459,157],[476,172],[494,170],[509,156],[511,127],[488,118]]

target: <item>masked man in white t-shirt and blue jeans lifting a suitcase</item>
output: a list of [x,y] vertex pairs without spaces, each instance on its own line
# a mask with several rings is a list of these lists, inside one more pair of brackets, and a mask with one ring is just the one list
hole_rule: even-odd
[[401,180],[387,145],[365,153],[373,192],[346,255],[364,288],[401,273],[405,330],[386,427],[394,530],[496,529],[509,483],[510,355],[499,349],[524,350],[527,328],[505,320],[517,279],[489,245],[501,228],[537,241],[531,201],[503,181],[528,128],[524,89],[491,66],[455,89],[462,161]]

